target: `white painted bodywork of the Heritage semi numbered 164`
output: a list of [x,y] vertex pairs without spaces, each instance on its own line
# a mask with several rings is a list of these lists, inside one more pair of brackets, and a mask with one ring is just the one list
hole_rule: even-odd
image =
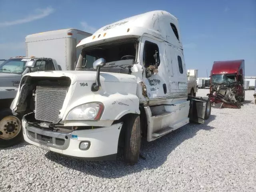
[[[175,24],[179,39],[176,38],[170,23]],[[181,35],[178,20],[170,13],[152,11],[109,24],[97,30],[92,36],[83,39],[77,48],[82,50],[82,48],[90,48],[101,43],[115,42],[131,37],[137,38],[139,41],[137,60],[131,68],[132,74],[101,72],[101,88],[97,92],[91,91],[92,83],[96,79],[95,71],[34,72],[25,75],[32,77],[67,76],[71,80],[71,85],[59,114],[64,126],[104,126],[93,130],[73,132],[78,135],[78,140],[81,138],[81,140],[93,141],[94,146],[90,153],[79,151],[78,140],[70,141],[68,150],[62,151],[55,148],[50,148],[50,150],[72,156],[86,157],[113,154],[117,150],[119,131],[112,123],[128,113],[140,114],[139,104],[146,103],[149,106],[158,106],[144,107],[148,122],[148,141],[159,138],[170,130],[177,129],[189,122],[188,79]],[[143,64],[145,41],[158,45],[160,57],[158,72],[149,78],[145,76]],[[178,57],[181,58],[182,70],[179,68]],[[82,62],[80,61],[82,61],[82,55],[78,59],[76,68],[81,66]],[[142,95],[141,82],[146,85],[147,97]],[[86,83],[88,86],[81,86],[80,83]],[[13,113],[16,111],[18,98],[19,94],[11,106]],[[88,102],[102,102],[104,104],[104,112],[100,120],[65,121],[70,110]],[[154,113],[151,111],[153,108]],[[25,122],[22,123],[24,126]],[[170,128],[170,130],[161,132],[166,128]],[[100,130],[102,131],[99,132]],[[30,141],[26,134],[24,137],[29,143],[38,146],[38,144]]]

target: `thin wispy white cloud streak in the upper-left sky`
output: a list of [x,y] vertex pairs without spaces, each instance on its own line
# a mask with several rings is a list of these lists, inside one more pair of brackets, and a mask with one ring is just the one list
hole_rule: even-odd
[[0,23],[0,27],[6,27],[6,26],[11,26],[11,25],[17,25],[17,24],[22,24],[22,23],[28,23],[34,20],[42,19],[54,12],[54,9],[52,7],[47,7],[45,9],[36,9],[35,10],[37,14],[34,15],[28,15],[27,17],[23,19],[18,19],[14,21],[5,21]]

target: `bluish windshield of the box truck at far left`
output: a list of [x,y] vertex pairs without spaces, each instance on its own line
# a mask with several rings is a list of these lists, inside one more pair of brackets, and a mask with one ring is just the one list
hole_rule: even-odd
[[[22,61],[23,60],[23,61]],[[9,59],[0,64],[0,72],[22,74],[26,69],[26,62],[23,58]]]

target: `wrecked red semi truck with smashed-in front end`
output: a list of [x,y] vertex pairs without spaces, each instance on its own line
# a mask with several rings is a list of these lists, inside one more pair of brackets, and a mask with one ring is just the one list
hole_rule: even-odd
[[210,75],[212,103],[240,108],[244,101],[244,60],[214,61]]

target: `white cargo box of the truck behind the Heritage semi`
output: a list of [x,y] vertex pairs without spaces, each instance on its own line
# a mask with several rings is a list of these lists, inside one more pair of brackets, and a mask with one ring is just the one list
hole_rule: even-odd
[[92,34],[77,29],[61,29],[26,36],[26,56],[53,58],[60,70],[74,70],[81,48],[76,45]]

